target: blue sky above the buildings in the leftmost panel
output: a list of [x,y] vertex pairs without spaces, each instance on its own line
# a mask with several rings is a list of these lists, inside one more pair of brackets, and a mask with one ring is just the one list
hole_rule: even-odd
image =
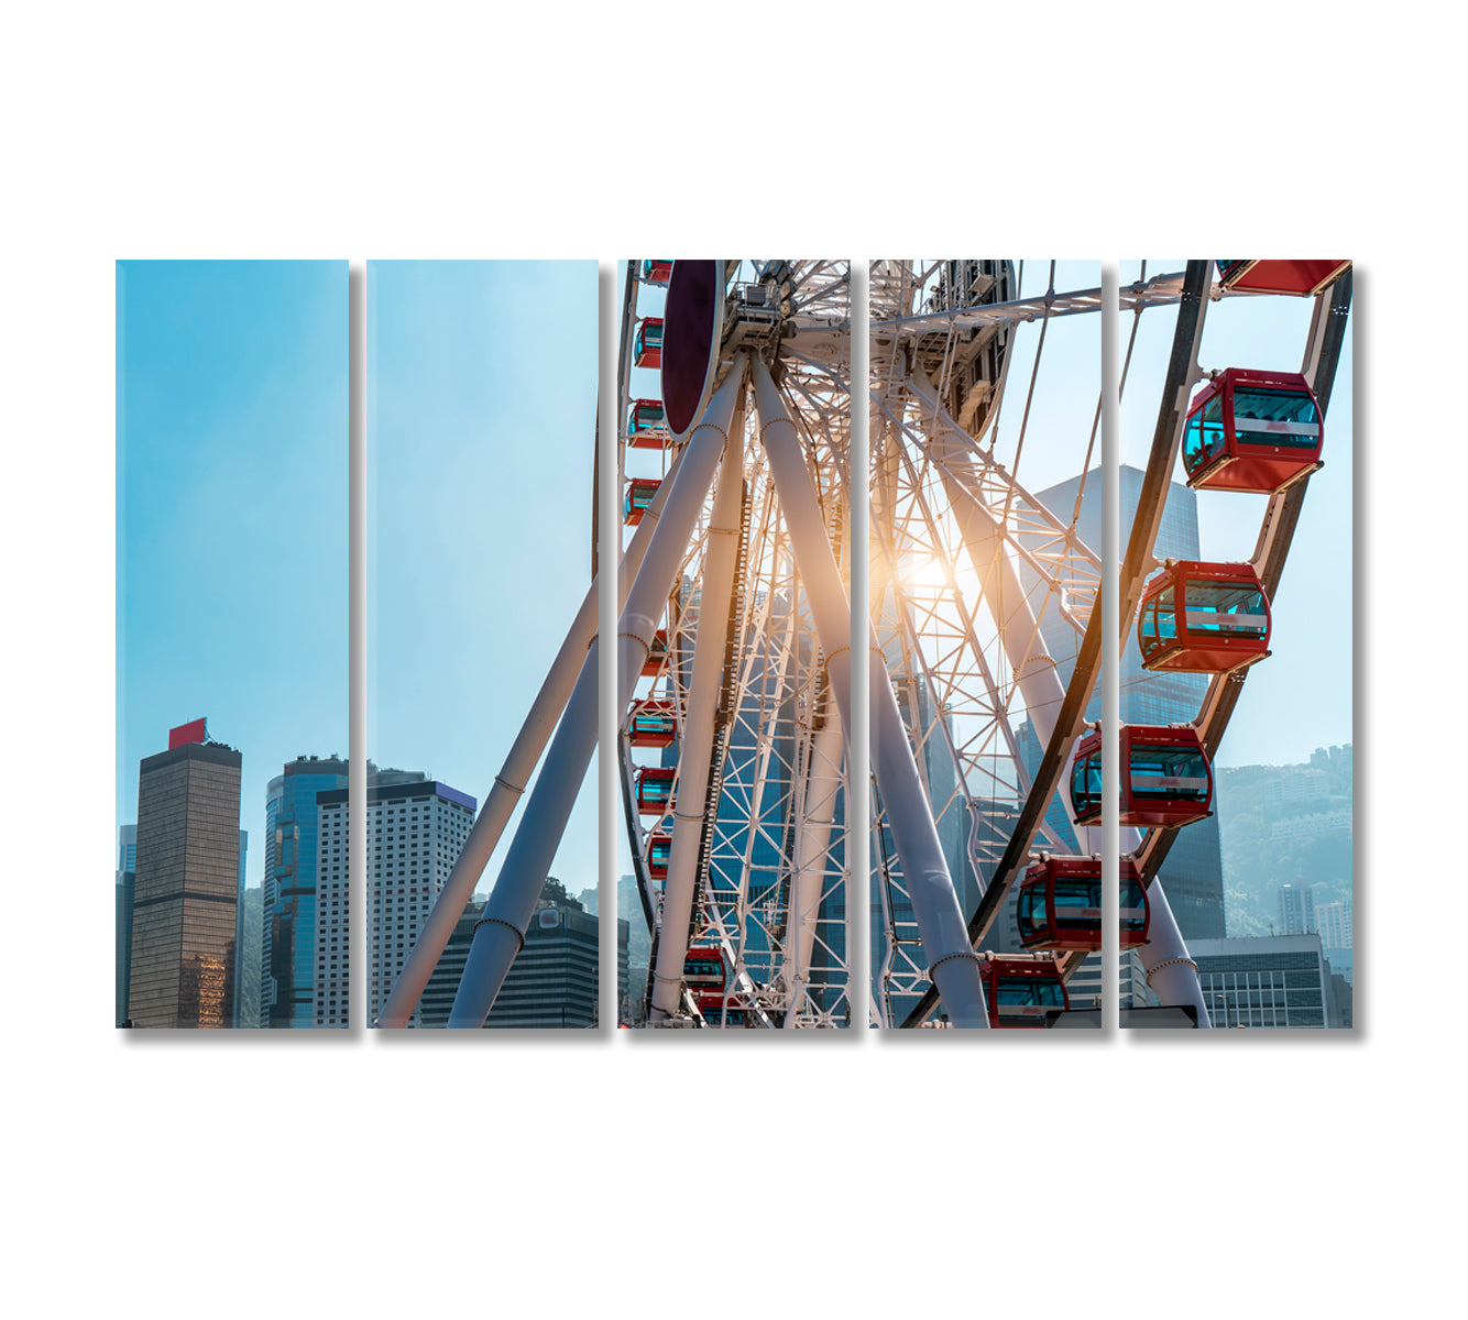
[[208,716],[264,792],[346,754],[346,263],[117,264],[117,823]]

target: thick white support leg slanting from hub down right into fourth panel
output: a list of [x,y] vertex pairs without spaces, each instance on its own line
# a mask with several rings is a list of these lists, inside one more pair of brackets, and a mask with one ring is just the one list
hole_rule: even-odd
[[[755,399],[759,409],[760,440],[769,472],[790,528],[790,543],[810,598],[821,648],[841,726],[851,727],[851,607],[841,587],[841,573],[831,553],[816,491],[800,449],[800,437],[775,383],[757,358],[752,364]],[[872,770],[897,855],[901,858],[929,977],[942,997],[948,1019],[956,1027],[988,1027],[979,961],[969,947],[967,925],[959,908],[953,877],[938,840],[938,830],[922,791],[918,763],[913,760],[907,730],[897,710],[897,698],[887,676],[887,664],[869,634],[872,681],[869,710],[872,720]]]

